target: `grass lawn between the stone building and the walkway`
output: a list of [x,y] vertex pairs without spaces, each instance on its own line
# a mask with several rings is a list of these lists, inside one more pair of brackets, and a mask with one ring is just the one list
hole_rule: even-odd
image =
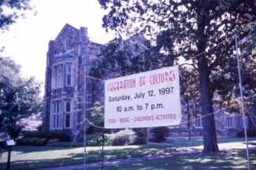
[[[219,139],[219,143],[240,143],[243,144],[244,139]],[[202,140],[175,140],[170,146],[162,145],[143,145],[143,146],[105,146],[105,160],[126,158],[126,157],[143,157],[146,155],[155,155],[163,153],[173,153],[180,150],[193,150],[182,146],[198,146],[202,144]],[[250,143],[256,143],[256,138],[250,138]],[[101,152],[99,147],[87,147],[87,162],[95,162],[101,160]],[[198,157],[202,154],[196,154]],[[242,155],[243,156],[243,155]],[[242,156],[237,156],[242,159]],[[194,154],[184,156],[187,157],[187,164],[194,157]],[[191,157],[191,160],[190,158]],[[207,157],[210,157],[208,155]],[[221,157],[221,156],[220,156]],[[224,157],[224,156],[223,156]],[[215,159],[216,157],[213,157]],[[199,158],[198,158],[199,159]],[[208,158],[210,159],[210,158]],[[224,158],[220,158],[224,159]],[[5,152],[0,158],[0,169],[6,168],[7,153]],[[256,160],[256,157],[254,157]],[[163,160],[161,160],[163,161]],[[224,160],[223,160],[224,161]],[[11,157],[11,167],[13,169],[32,169],[45,168],[63,165],[71,165],[83,163],[83,147],[61,146],[15,146],[13,147]],[[148,162],[150,164],[151,161]],[[140,162],[139,164],[143,164]],[[165,165],[164,162],[162,164]],[[125,166],[125,165],[124,165]],[[136,165],[137,166],[137,165]],[[123,168],[120,168],[123,169]],[[137,169],[137,168],[134,168]],[[147,169],[147,168],[146,168]],[[172,168],[173,169],[173,168]]]

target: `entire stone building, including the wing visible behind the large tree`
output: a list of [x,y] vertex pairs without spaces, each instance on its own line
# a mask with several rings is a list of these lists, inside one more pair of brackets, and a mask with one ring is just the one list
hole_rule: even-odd
[[[76,29],[69,24],[65,24],[57,38],[50,41],[43,100],[44,130],[75,133],[83,121],[84,110],[96,101],[103,101],[102,82],[86,78],[98,60],[100,46],[90,41],[86,27]],[[89,116],[90,113],[86,114]],[[192,115],[191,120],[198,116]],[[239,116],[220,112],[215,115],[215,120],[217,136],[236,136],[242,129]],[[187,121],[186,115],[182,121]],[[188,137],[189,133],[202,136],[202,118],[191,121],[191,128],[187,128],[186,123],[169,127],[172,137]]]

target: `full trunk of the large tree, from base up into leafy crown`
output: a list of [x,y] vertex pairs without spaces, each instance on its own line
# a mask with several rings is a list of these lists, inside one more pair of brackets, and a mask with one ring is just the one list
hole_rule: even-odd
[[219,151],[217,146],[217,136],[215,128],[215,120],[213,113],[213,92],[211,92],[210,85],[210,67],[206,59],[207,37],[206,26],[210,27],[210,19],[206,15],[206,7],[202,6],[202,9],[198,10],[198,42],[197,50],[198,54],[198,73],[199,73],[199,87],[201,96],[201,109],[202,109],[202,137],[203,137],[203,152],[216,152]]

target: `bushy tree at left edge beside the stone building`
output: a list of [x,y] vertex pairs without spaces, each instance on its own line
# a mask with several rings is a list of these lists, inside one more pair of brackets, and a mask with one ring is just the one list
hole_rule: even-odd
[[40,85],[34,78],[20,76],[20,66],[0,56],[0,133],[17,138],[20,120],[39,112]]

